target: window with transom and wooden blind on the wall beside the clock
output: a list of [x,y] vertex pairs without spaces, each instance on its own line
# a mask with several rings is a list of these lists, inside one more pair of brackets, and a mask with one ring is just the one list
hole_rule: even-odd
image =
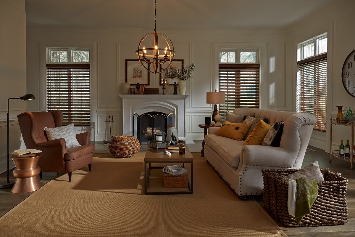
[[302,60],[297,61],[297,112],[315,115],[314,129],[326,131],[327,36],[322,34],[300,43],[298,48]]

